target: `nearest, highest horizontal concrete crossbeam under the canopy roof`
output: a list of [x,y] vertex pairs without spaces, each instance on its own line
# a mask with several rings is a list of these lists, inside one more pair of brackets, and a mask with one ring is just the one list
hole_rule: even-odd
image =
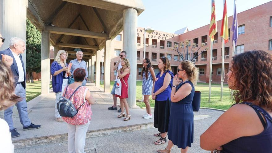
[[60,28],[60,27],[53,27],[53,26],[46,26],[45,29],[51,33],[56,33],[56,34],[81,36],[81,37],[89,37],[89,38],[99,38],[99,39],[108,38],[108,34],[100,33],[100,32],[91,32],[91,31],[86,31],[86,30]]

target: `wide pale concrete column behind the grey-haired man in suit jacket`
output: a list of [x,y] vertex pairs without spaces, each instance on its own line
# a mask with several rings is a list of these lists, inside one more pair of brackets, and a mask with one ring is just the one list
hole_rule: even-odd
[[[26,41],[26,19],[28,0],[0,1],[0,33],[6,38],[0,51],[9,48],[11,37],[19,37]],[[21,54],[26,70],[26,50]]]

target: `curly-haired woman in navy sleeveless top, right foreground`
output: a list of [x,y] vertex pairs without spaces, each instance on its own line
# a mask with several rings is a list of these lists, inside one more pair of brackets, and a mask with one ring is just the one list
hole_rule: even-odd
[[220,153],[272,152],[272,56],[247,51],[231,65],[227,83],[236,104],[200,136],[200,146]]

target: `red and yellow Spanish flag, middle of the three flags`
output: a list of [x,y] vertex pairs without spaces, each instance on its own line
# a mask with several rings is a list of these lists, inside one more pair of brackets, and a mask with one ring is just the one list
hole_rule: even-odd
[[227,0],[225,0],[224,10],[223,10],[223,19],[221,24],[220,36],[223,37],[224,43],[226,44],[228,42]]

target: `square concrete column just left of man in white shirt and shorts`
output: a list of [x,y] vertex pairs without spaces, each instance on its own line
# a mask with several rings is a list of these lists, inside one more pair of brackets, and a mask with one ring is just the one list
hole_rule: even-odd
[[104,48],[104,92],[110,92],[110,73],[111,73],[111,39],[105,39],[105,48]]

